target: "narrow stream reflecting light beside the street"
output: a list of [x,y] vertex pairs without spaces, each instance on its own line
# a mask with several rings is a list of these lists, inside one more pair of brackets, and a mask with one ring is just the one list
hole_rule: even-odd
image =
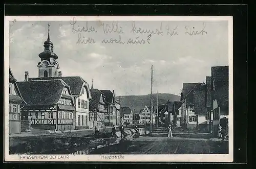
[[145,128],[138,128],[138,132],[127,135],[124,139],[105,139],[103,142],[96,143],[93,145],[88,145],[86,147],[80,147],[73,150],[69,150],[70,154],[73,155],[82,155],[82,154],[93,154],[95,150],[100,151],[101,149],[108,148],[110,146],[116,145],[116,144],[121,144],[127,141],[132,141],[135,140],[136,138],[143,136],[145,134],[148,134],[150,131],[148,131]]

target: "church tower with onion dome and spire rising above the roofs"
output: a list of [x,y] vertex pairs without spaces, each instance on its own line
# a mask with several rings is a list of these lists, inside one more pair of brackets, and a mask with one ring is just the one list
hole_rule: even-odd
[[59,64],[56,61],[58,56],[53,53],[53,43],[50,40],[50,23],[48,23],[48,38],[44,42],[45,50],[38,56],[41,62],[37,64],[38,78],[57,77]]

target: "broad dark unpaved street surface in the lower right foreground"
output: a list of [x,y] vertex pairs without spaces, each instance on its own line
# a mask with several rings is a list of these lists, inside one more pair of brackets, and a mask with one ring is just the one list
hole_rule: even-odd
[[219,139],[139,137],[90,154],[227,154],[228,141]]

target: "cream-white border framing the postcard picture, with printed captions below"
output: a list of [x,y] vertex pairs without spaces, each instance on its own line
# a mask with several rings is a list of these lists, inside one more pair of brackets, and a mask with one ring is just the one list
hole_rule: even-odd
[[[169,20],[169,21],[193,21],[193,20],[227,20],[228,21],[228,58],[229,58],[229,154],[199,154],[199,155],[122,155],[122,159],[102,159],[103,155],[69,155],[68,160],[58,159],[19,159],[19,155],[9,155],[9,94],[8,87],[4,88],[4,111],[5,111],[5,135],[4,152],[5,161],[19,162],[49,162],[49,161],[80,161],[80,162],[232,162],[233,161],[233,18],[232,16],[5,16],[5,49],[4,49],[4,84],[9,83],[9,21],[70,21],[76,17],[77,21],[93,20]],[[6,111],[7,109],[7,111]],[[49,156],[49,155],[48,155]],[[58,155],[56,155],[58,156]],[[108,155],[104,155],[108,156]],[[115,155],[119,156],[119,155]]]

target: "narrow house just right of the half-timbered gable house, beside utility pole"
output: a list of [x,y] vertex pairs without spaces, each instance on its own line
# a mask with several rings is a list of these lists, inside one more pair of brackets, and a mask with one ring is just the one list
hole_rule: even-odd
[[105,126],[113,126],[116,124],[116,107],[115,107],[115,91],[100,90],[105,96],[105,105],[107,112],[104,114]]

